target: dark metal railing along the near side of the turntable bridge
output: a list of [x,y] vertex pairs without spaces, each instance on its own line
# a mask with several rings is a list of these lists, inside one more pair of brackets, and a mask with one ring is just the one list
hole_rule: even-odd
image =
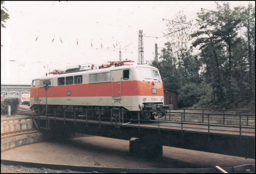
[[[112,109],[72,109],[72,108],[53,108],[53,107],[47,107],[49,110],[53,110],[52,113],[49,113],[47,115],[43,115],[45,118],[45,129],[49,130],[49,122],[50,119],[48,117],[54,118],[54,123],[56,123],[56,120],[64,119],[64,124],[66,122],[72,121],[74,122],[74,125],[76,126],[77,122],[85,122],[86,128],[88,127],[89,121],[96,121],[95,123],[99,124],[99,129],[101,129],[102,124],[108,123],[113,126],[115,126],[117,129],[120,129],[120,127],[125,127],[129,123],[137,123],[138,124],[138,133],[141,131],[141,123],[156,123],[158,124],[158,134],[161,131],[161,124],[162,123],[180,123],[181,124],[181,136],[183,136],[184,131],[184,125],[200,125],[200,126],[206,126],[208,128],[208,138],[210,138],[210,127],[225,127],[225,128],[237,128],[239,129],[239,136],[240,139],[242,138],[242,129],[254,129],[255,130],[255,115],[232,115],[232,114],[225,114],[225,116],[230,116],[230,118],[225,117],[225,119],[232,119],[236,120],[239,124],[227,124],[225,123],[225,120],[223,123],[212,123],[216,119],[220,119],[220,117],[217,117],[219,114],[212,114],[212,113],[186,113],[186,114],[197,114],[196,116],[190,117],[196,117],[200,118],[201,123],[199,122],[189,122],[188,120],[185,121],[185,114],[184,112],[173,112],[172,111],[166,111],[166,112],[160,112],[160,111],[154,111],[154,114],[156,115],[154,118],[155,120],[148,120],[143,119],[141,116],[142,113],[146,113],[148,111],[126,111],[124,109],[118,109],[118,108],[112,108]],[[39,110],[45,109],[43,107],[37,107],[37,114],[34,114],[33,112],[32,116],[37,116],[37,124],[40,125],[40,116]],[[83,112],[82,115],[76,114],[77,112]],[[45,112],[44,112],[45,113]],[[125,118],[124,115],[132,114],[133,116],[136,115],[136,117],[133,118]],[[175,114],[173,116],[173,114]],[[201,114],[203,114],[201,116]],[[211,117],[212,115],[215,115],[215,117]],[[201,116],[201,117],[200,117]],[[243,118],[243,116],[246,116],[247,118]],[[249,119],[248,117],[251,116]],[[178,117],[180,118],[178,121],[172,121],[172,117]],[[188,115],[187,115],[188,117]],[[254,119],[253,119],[254,118]],[[207,121],[206,121],[206,120]],[[221,118],[223,119],[223,118]],[[90,122],[92,123],[92,122]],[[161,124],[160,124],[161,123]],[[251,125],[248,125],[248,124]],[[166,126],[166,125],[165,125]],[[255,132],[254,132],[255,133]]]

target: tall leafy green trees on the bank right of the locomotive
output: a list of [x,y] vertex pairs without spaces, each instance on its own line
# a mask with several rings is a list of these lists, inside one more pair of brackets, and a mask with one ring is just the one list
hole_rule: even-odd
[[159,69],[164,88],[179,91],[180,107],[198,102],[196,107],[254,109],[255,7],[216,6],[217,12],[197,13],[193,32],[179,12],[173,19],[179,22],[167,23],[170,42],[151,65]]

